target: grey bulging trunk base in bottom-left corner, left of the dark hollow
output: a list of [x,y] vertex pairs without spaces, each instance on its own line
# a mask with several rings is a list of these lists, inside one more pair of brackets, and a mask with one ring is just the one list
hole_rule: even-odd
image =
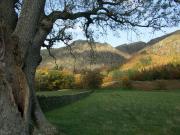
[[24,121],[15,104],[12,88],[1,72],[0,77],[0,134],[26,135]]

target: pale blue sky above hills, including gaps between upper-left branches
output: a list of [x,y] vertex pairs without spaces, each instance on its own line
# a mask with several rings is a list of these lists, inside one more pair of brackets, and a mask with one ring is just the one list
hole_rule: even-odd
[[[54,4],[52,5],[52,3],[47,0],[47,3],[46,3],[47,7],[45,10],[47,12],[46,14],[49,14],[50,12],[52,12],[52,10],[51,10],[52,7],[53,7],[53,9],[63,9],[64,5],[60,4],[61,2],[60,3],[59,2],[60,1],[58,1],[58,0],[54,0],[53,1]],[[51,7],[51,8],[49,8],[49,7]],[[73,41],[78,40],[78,39],[86,40],[86,38],[83,34],[83,31],[82,31],[82,28],[80,27],[80,26],[82,26],[81,23],[84,23],[84,21],[75,24],[76,29],[74,29],[74,30],[71,29],[69,31],[69,32],[74,33]],[[115,46],[118,46],[121,44],[133,43],[133,42],[137,42],[137,41],[148,42],[149,40],[151,40],[153,38],[160,37],[162,35],[174,32],[175,30],[180,30],[180,25],[178,27],[165,28],[165,29],[163,29],[163,31],[156,31],[154,33],[152,33],[152,30],[147,29],[147,28],[138,28],[139,29],[138,31],[140,34],[135,34],[132,31],[117,30],[118,31],[118,33],[117,33],[117,32],[111,31],[111,30],[107,30],[107,34],[105,34],[103,36],[99,34],[100,32],[98,32],[101,30],[99,30],[95,26],[92,26],[92,29],[96,31],[95,36],[94,36],[95,41],[101,42],[101,43],[106,42],[115,47]],[[98,37],[98,38],[96,38],[96,37]],[[56,45],[54,47],[62,47],[62,46],[64,46],[62,43],[56,43]]]

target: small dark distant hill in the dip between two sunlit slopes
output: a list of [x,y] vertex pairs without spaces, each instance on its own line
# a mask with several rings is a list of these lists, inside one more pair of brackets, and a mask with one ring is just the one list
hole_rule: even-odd
[[116,47],[116,49],[126,52],[128,54],[135,54],[141,49],[145,48],[148,44],[145,42],[139,41],[131,44],[123,44]]

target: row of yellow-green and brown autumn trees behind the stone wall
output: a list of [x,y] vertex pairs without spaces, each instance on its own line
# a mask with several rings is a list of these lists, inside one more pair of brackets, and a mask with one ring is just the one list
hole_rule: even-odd
[[97,70],[83,70],[74,74],[68,70],[39,69],[36,73],[36,90],[94,89],[101,86],[103,76]]

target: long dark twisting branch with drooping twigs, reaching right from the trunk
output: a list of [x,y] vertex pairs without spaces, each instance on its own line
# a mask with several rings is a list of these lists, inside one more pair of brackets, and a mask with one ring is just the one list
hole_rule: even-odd
[[[164,0],[96,0],[86,2],[88,6],[84,5],[83,7],[77,3],[76,5],[74,1],[70,3],[70,1],[64,0],[64,8],[61,11],[51,9],[52,12],[45,16],[46,19],[44,20],[46,20],[46,23],[43,23],[44,27],[47,27],[50,31],[57,20],[64,21],[64,24],[66,24],[66,21],[73,22],[77,20],[78,22],[83,20],[82,27],[85,36],[88,41],[93,41],[93,31],[89,29],[92,24],[100,26],[104,31],[105,27],[110,27],[112,30],[122,28],[133,29],[134,31],[136,27],[151,27],[160,30],[163,27],[174,26],[180,22],[178,18],[180,7],[175,4],[176,1],[170,4]],[[71,24],[72,27],[73,25]],[[62,26],[58,27],[61,30],[63,29]],[[55,29],[57,30],[58,27]],[[69,41],[72,39],[65,30],[63,32],[51,32],[50,35],[52,37],[46,39],[50,47],[57,41],[61,41],[69,46],[65,40]]]

